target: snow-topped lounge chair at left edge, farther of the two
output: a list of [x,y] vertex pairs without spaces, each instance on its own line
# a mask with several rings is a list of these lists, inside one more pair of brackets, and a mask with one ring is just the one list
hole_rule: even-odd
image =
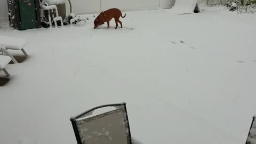
[[14,59],[12,54],[7,50],[21,50],[23,54],[25,54],[25,57],[28,57],[28,54],[24,50],[24,47],[27,44],[28,44],[28,41],[23,38],[0,36],[0,46],[2,47],[2,52],[5,53],[6,55],[9,55],[14,63],[18,63],[18,62],[17,60]]

